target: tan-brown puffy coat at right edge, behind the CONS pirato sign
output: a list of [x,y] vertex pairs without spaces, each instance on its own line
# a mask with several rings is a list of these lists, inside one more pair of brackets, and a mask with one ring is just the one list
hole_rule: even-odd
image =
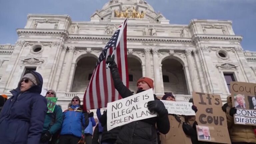
[[234,118],[229,115],[230,108],[232,108],[230,97],[227,97],[228,107],[226,108],[226,117],[231,142],[256,143],[256,136],[254,134],[255,126],[234,124]]

